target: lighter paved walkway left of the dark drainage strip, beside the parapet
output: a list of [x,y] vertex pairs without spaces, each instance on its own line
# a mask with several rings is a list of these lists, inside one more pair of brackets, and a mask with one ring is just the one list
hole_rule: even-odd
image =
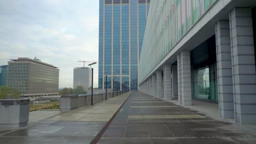
[[[20,129],[0,127],[0,143],[90,143],[129,95],[130,92],[102,100]],[[31,120],[37,121],[35,117]]]

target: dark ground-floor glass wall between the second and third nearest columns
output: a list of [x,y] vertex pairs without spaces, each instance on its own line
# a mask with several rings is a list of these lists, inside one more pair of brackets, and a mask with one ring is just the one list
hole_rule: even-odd
[[218,103],[215,37],[191,51],[192,98]]

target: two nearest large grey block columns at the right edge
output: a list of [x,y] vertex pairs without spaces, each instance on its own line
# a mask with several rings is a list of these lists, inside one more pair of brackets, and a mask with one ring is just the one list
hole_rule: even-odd
[[219,114],[256,123],[256,73],[251,8],[236,8],[216,23]]

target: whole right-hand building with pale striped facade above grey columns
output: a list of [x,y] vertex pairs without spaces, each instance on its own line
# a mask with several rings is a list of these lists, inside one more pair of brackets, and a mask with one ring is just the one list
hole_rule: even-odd
[[219,104],[221,118],[256,123],[256,1],[150,1],[139,90]]

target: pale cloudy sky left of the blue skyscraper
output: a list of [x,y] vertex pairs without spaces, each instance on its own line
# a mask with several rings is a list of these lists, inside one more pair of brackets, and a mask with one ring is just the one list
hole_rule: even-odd
[[98,62],[98,0],[0,0],[0,65],[18,57],[59,67],[60,87],[73,87],[78,61]]

